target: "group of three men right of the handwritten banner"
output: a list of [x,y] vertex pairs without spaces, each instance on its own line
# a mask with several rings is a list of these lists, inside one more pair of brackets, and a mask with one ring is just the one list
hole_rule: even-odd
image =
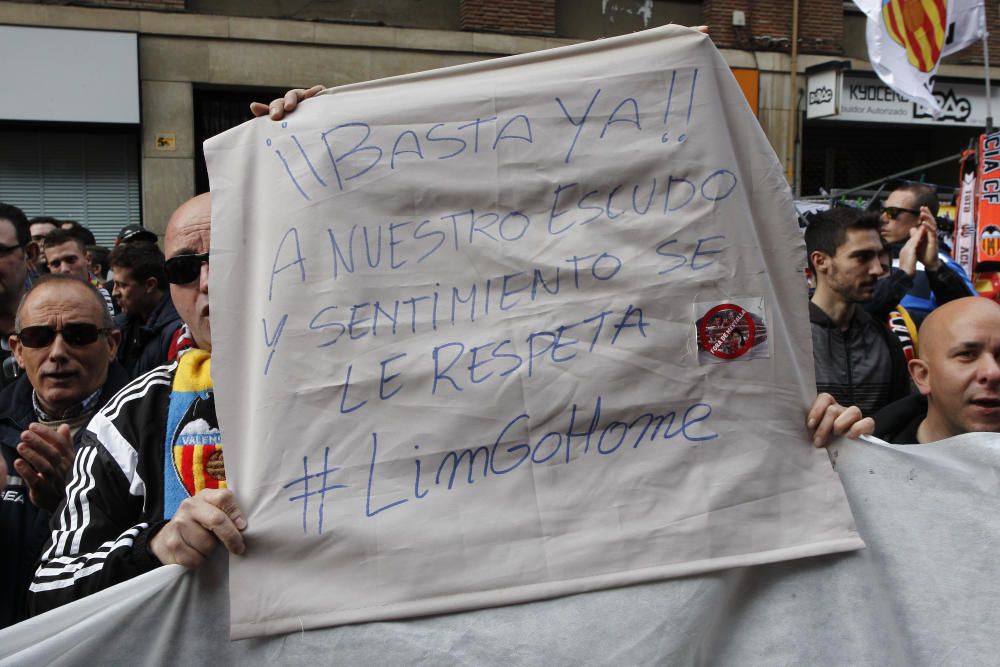
[[[830,433],[919,444],[1000,431],[1000,304],[976,296],[939,250],[937,209],[932,187],[904,184],[880,212],[839,207],[809,221],[816,444]],[[920,325],[905,335],[916,339],[910,358],[888,326],[907,303]]]

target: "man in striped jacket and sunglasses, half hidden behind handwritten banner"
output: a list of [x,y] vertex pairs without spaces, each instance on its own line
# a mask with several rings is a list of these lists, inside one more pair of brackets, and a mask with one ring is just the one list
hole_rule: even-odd
[[211,202],[167,225],[164,265],[195,347],[129,384],[98,411],[29,589],[40,613],[159,567],[196,567],[221,542],[243,553],[246,520],[225,488],[211,385]]

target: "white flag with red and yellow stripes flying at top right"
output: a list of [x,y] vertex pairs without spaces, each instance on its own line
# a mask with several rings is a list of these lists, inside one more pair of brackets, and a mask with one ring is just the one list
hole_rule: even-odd
[[868,17],[868,59],[897,93],[941,114],[934,75],[941,58],[961,51],[986,28],[983,0],[855,0]]

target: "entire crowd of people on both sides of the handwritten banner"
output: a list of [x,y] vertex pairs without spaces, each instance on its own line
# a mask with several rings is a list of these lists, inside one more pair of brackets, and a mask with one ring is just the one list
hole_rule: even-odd
[[[280,120],[321,89],[252,110]],[[904,186],[880,213],[809,223],[815,444],[1000,431],[1000,304],[939,252],[936,207],[932,189]],[[219,544],[243,552],[211,380],[210,228],[202,194],[170,218],[164,252],[130,225],[101,267],[84,227],[0,204],[0,627],[162,564],[196,567]],[[921,290],[935,309],[907,359],[886,318]]]

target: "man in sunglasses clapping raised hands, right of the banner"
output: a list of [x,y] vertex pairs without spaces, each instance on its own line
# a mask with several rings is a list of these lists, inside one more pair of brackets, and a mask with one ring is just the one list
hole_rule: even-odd
[[919,325],[935,307],[976,294],[961,267],[938,252],[937,212],[937,194],[923,183],[898,187],[886,199],[882,238],[892,250],[895,269],[866,307],[872,315],[881,319],[902,304]]

